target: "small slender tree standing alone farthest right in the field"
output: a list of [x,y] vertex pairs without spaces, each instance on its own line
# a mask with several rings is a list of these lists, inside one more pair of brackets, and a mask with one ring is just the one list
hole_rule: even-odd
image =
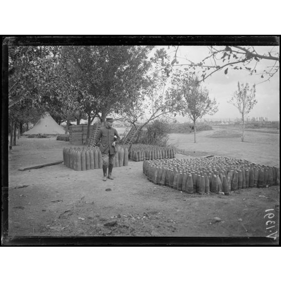
[[253,109],[255,104],[257,103],[256,100],[256,87],[253,85],[251,88],[248,83],[244,85],[243,83],[240,84],[238,82],[238,90],[234,92],[232,98],[230,101],[228,101],[230,104],[234,105],[236,108],[238,108],[239,112],[242,116],[242,136],[241,140],[244,142],[244,120],[247,114]]

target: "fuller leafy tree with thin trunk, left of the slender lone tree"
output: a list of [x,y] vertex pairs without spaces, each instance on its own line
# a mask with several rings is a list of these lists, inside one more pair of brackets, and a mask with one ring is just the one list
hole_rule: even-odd
[[195,122],[206,114],[215,114],[218,111],[217,101],[210,100],[208,90],[200,86],[198,77],[194,77],[187,71],[182,72],[177,69],[171,83],[170,99],[175,101],[183,116],[187,114],[193,121],[194,143],[196,143]]

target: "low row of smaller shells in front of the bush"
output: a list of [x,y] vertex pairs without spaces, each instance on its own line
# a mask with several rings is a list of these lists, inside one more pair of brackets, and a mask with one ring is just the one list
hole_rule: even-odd
[[176,158],[176,151],[172,147],[159,147],[143,144],[133,144],[129,151],[132,161]]

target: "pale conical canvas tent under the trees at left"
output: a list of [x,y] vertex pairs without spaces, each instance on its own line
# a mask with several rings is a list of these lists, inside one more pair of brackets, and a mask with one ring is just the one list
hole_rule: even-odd
[[41,116],[40,120],[34,125],[34,127],[24,134],[64,134],[64,128],[56,123],[49,113],[45,113]]

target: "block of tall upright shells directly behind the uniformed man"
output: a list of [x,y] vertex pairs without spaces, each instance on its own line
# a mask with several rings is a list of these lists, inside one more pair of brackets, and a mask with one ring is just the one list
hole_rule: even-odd
[[[85,171],[90,169],[93,170],[102,168],[102,154],[98,147],[67,147],[63,148],[62,156],[63,164],[66,167],[74,169],[76,171]],[[128,165],[128,149],[126,147],[118,146],[118,152],[115,154],[115,156],[118,157],[117,167]],[[115,157],[114,161],[116,161]]]

